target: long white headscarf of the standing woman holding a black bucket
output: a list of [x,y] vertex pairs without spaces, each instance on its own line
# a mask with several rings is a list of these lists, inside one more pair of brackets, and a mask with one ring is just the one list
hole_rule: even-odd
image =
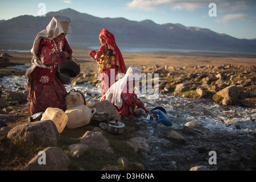
[[48,39],[54,39],[60,34],[70,34],[71,33],[71,27],[70,27],[70,22],[71,20],[65,16],[53,16],[51,22],[49,22],[48,26],[46,27],[45,30],[42,30],[36,35],[36,38],[34,40],[33,47],[31,49],[31,54],[32,54],[32,66],[29,67],[25,73],[25,77],[27,79],[27,88],[30,86],[30,74],[36,67],[40,68],[47,68],[46,65],[40,61],[38,57],[38,51],[39,51],[39,46],[40,46],[40,40],[43,38],[48,38]]

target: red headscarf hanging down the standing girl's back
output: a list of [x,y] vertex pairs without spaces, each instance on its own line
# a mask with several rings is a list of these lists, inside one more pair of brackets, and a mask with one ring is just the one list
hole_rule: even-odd
[[123,61],[122,53],[117,47],[117,44],[115,43],[114,35],[108,30],[106,30],[105,28],[103,28],[99,36],[104,40],[106,40],[106,43],[108,44],[108,48],[112,49],[115,56],[117,56],[118,72],[126,73],[125,61]]

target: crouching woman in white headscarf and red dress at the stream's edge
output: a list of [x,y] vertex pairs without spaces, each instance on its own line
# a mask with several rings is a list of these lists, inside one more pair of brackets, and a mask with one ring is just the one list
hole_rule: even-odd
[[141,78],[141,69],[130,67],[125,76],[110,86],[108,92],[101,98],[101,101],[108,100],[117,108],[122,117],[131,119],[135,106],[141,107],[145,113],[150,113],[134,93],[134,86]]

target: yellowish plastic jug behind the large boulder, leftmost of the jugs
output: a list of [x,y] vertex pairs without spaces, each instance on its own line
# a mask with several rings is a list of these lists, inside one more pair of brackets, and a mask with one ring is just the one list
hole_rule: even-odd
[[43,120],[51,120],[55,123],[57,130],[59,133],[62,133],[65,126],[68,122],[68,116],[62,109],[55,108],[55,107],[48,107],[46,111],[44,111],[41,121]]

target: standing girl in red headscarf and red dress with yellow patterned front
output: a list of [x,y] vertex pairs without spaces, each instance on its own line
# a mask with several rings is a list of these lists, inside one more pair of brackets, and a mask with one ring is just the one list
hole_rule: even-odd
[[102,96],[104,96],[110,86],[117,81],[117,74],[126,73],[126,66],[122,53],[115,43],[114,35],[103,28],[99,39],[102,46],[97,52],[90,51],[89,55],[100,65]]

